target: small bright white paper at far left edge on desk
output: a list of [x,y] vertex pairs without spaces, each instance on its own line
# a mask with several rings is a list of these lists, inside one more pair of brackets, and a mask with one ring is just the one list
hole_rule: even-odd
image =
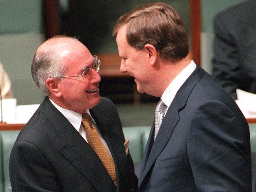
[[[0,120],[2,120],[2,116],[3,116],[4,122],[11,123],[13,121],[13,119],[15,118],[16,103],[17,103],[16,99],[3,99],[2,100],[3,115],[1,115],[1,110],[0,110]],[[1,102],[0,102],[0,107],[1,107]]]

